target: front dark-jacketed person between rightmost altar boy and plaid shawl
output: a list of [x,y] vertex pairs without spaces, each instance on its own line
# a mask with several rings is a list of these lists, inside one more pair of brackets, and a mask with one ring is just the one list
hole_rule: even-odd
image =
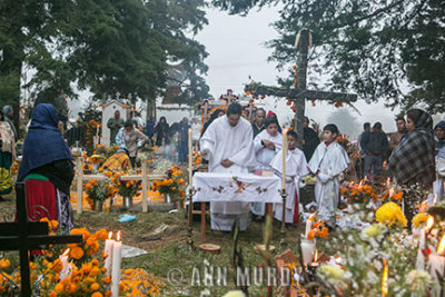
[[374,123],[373,131],[362,139],[362,149],[365,155],[365,176],[375,177],[382,174],[383,161],[388,152],[388,138],[382,131],[382,123]]

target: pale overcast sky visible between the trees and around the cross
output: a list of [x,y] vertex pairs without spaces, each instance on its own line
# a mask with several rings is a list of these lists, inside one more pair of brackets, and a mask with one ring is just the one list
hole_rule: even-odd
[[[219,97],[227,89],[235,93],[243,93],[244,85],[249,82],[249,76],[265,85],[276,85],[280,75],[276,65],[267,62],[271,49],[265,47],[265,42],[277,37],[277,32],[269,26],[278,18],[278,9],[266,8],[259,12],[250,12],[247,17],[229,16],[218,10],[207,10],[209,24],[197,36],[197,39],[206,46],[209,57],[206,63],[209,66],[207,83],[210,93]],[[291,111],[284,100],[269,98],[268,107],[281,115],[280,120],[291,117]],[[362,116],[353,111],[357,120],[380,121],[386,131],[395,130],[394,117],[398,110],[392,111],[384,108],[383,102],[367,105],[364,101],[355,103]],[[306,103],[306,115],[322,125],[326,125],[326,118],[336,108],[317,102],[312,107]]]

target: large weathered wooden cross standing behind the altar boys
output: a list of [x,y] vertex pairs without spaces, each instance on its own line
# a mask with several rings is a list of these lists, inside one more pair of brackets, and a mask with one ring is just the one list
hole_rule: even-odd
[[343,92],[327,92],[318,90],[307,90],[307,62],[312,36],[308,29],[301,29],[297,34],[295,42],[298,52],[298,76],[297,87],[283,89],[278,87],[268,87],[260,83],[250,83],[246,86],[245,91],[250,91],[255,96],[285,97],[296,102],[297,110],[294,117],[295,131],[298,133],[298,148],[303,148],[303,120],[305,116],[306,99],[322,101],[354,102],[357,101],[357,95]]

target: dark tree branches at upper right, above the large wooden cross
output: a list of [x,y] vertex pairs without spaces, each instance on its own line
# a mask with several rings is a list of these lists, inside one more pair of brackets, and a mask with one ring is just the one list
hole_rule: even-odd
[[[444,2],[419,0],[214,0],[229,13],[280,7],[274,22],[279,38],[269,58],[280,68],[296,58],[295,36],[313,32],[309,76],[329,77],[332,83],[315,87],[354,90],[362,99],[385,99],[389,107],[424,103],[445,111]],[[298,70],[297,70],[298,71]],[[318,81],[317,79],[316,81]]]

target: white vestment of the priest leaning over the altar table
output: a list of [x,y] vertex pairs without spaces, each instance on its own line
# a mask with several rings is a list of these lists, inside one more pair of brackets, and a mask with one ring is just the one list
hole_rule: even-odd
[[[227,116],[216,119],[200,139],[201,151],[208,151],[209,172],[247,174],[254,164],[254,143],[251,125],[240,118],[231,127]],[[221,161],[229,159],[233,166],[226,168]],[[210,202],[211,229],[230,231],[235,219],[239,219],[241,230],[247,228],[250,204]]]

